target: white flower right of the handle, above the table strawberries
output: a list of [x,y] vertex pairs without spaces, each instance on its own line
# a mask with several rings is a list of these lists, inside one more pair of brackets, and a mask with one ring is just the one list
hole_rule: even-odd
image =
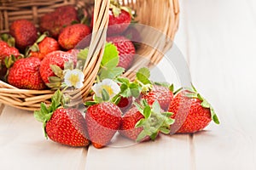
[[94,91],[96,97],[103,98],[102,96],[103,88],[108,92],[110,99],[112,99],[116,94],[119,94],[120,92],[120,87],[118,83],[113,82],[113,80],[106,78],[102,82],[98,82],[92,87],[92,90]]

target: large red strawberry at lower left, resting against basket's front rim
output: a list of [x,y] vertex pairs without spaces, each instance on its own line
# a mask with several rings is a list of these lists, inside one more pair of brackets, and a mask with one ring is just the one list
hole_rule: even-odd
[[17,88],[44,89],[46,88],[40,76],[40,59],[18,59],[9,69],[8,82]]

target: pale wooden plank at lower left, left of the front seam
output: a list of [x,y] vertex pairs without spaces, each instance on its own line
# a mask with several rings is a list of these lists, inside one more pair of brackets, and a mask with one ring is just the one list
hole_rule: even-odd
[[6,106],[0,117],[1,169],[84,169],[86,148],[44,139],[32,112]]

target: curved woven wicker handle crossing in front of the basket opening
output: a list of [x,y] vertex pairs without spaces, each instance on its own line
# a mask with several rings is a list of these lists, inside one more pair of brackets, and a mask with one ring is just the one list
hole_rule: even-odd
[[84,87],[81,91],[83,97],[90,94],[90,88],[96,80],[102,62],[107,37],[109,4],[109,0],[95,0],[93,30],[83,70],[85,76]]

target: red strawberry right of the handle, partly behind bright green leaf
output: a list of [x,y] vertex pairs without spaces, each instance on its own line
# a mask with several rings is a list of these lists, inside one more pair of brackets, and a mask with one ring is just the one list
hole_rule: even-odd
[[119,51],[118,66],[127,70],[131,66],[135,55],[135,48],[133,43],[129,39],[122,36],[108,37],[107,42],[113,42],[113,44],[117,47]]

